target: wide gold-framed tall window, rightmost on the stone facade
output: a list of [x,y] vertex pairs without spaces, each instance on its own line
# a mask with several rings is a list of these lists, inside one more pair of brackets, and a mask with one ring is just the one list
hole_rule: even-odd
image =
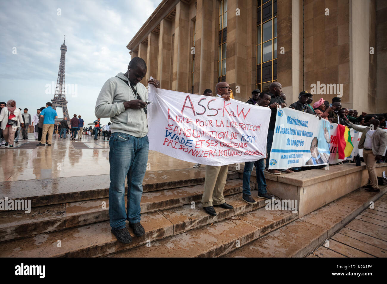
[[277,81],[277,0],[257,0],[257,88]]

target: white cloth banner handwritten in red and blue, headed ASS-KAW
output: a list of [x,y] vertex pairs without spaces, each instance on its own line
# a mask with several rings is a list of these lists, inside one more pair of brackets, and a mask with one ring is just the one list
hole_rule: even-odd
[[266,158],[271,110],[149,85],[149,150],[221,166]]

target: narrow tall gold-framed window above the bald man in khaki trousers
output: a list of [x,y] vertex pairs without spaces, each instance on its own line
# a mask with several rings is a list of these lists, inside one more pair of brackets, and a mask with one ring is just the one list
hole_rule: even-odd
[[226,81],[227,0],[220,1],[217,82]]

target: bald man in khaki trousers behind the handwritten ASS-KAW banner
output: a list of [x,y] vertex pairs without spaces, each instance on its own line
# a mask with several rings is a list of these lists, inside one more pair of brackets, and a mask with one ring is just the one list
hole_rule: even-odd
[[[219,82],[215,87],[216,96],[229,100],[231,88],[226,82]],[[228,165],[224,166],[205,166],[204,192],[202,204],[204,211],[211,216],[216,216],[214,206],[226,209],[234,209],[224,201],[223,190],[227,179]]]

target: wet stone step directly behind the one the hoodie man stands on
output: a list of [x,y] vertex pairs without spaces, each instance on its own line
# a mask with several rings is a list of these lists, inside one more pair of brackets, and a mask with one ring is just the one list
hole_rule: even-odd
[[[242,180],[228,180],[223,194],[228,196],[242,190]],[[142,194],[140,202],[141,213],[168,209],[184,204],[190,204],[191,206],[191,202],[200,202],[202,194],[203,185],[145,192]],[[127,204],[126,196],[125,204]],[[25,214],[24,211],[5,211],[0,213],[0,241],[62,230],[108,219],[109,199],[107,197],[69,202],[67,204],[33,207],[29,214]]]

